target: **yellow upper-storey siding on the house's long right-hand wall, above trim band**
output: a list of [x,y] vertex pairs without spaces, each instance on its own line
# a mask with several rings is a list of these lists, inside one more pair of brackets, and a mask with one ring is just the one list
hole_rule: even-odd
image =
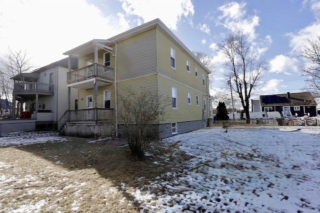
[[[172,42],[161,30],[157,28],[157,64],[158,72],[164,76],[168,76],[174,80],[180,81],[192,88],[206,93],[206,87],[202,85],[202,74],[205,73],[196,61],[192,60],[191,56],[180,49]],[[171,68],[170,64],[170,47],[175,49],[175,69]],[[186,70],[186,60],[190,62],[190,72]],[[195,77],[194,67],[198,68],[198,77]],[[205,73],[206,75],[206,73]]]

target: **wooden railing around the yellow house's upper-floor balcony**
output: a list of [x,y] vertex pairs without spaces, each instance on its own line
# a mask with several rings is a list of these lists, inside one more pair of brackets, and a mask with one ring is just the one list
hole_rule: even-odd
[[101,64],[94,63],[68,72],[66,75],[66,82],[68,84],[71,84],[94,77],[100,77],[112,81],[113,69]]

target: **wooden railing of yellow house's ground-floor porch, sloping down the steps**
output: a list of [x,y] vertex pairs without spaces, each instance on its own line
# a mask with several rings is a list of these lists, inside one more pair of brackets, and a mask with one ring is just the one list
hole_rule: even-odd
[[58,130],[61,130],[66,122],[81,121],[112,121],[113,109],[92,108],[80,110],[67,110],[58,121]]

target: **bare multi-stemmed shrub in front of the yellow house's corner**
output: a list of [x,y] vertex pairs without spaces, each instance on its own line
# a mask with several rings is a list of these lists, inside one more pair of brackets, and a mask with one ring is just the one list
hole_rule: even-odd
[[132,156],[141,159],[150,142],[158,139],[158,124],[163,120],[169,98],[141,88],[140,91],[130,89],[119,100],[119,131],[127,140]]

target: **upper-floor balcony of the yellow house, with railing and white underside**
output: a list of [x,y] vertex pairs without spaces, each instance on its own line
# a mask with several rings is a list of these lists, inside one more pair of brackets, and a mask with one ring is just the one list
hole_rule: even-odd
[[75,88],[91,88],[89,82],[97,80],[99,85],[107,85],[113,82],[113,69],[97,63],[70,71],[66,75],[66,83]]

